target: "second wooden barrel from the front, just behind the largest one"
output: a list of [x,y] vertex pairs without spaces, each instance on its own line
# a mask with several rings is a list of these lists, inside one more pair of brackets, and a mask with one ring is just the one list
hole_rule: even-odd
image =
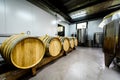
[[62,44],[58,37],[50,37],[48,35],[39,37],[46,45],[47,56],[57,56],[62,50]]

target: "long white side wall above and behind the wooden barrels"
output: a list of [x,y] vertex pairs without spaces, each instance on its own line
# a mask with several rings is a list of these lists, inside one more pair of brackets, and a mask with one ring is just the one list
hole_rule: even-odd
[[[55,16],[26,0],[0,0],[0,34],[17,34],[27,31],[41,36],[57,34]],[[68,24],[65,24],[68,28]],[[69,34],[66,28],[66,36]],[[0,39],[1,40],[1,39]]]

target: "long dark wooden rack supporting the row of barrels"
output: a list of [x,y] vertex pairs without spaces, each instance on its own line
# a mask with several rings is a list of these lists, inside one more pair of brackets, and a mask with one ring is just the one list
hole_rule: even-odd
[[[75,48],[74,48],[75,49]],[[36,66],[30,69],[17,69],[13,66],[10,66],[9,64],[4,63],[0,65],[0,80],[20,80],[25,75],[32,75],[35,76],[37,72],[42,68],[45,67],[45,65],[59,59],[60,57],[63,57],[64,55],[67,55],[74,49],[69,49],[68,52],[65,52],[64,50],[61,51],[61,53],[56,57],[44,57],[40,63],[38,63]]]

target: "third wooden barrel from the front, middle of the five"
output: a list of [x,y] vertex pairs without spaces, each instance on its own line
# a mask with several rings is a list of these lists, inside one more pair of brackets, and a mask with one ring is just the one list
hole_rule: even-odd
[[62,42],[63,50],[67,52],[70,48],[69,38],[67,38],[67,37],[59,37],[59,38]]

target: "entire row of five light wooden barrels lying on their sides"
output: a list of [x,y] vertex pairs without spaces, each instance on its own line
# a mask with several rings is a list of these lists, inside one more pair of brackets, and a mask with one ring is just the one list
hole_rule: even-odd
[[57,56],[62,50],[68,51],[78,45],[76,38],[38,38],[25,34],[13,35],[0,46],[0,53],[6,62],[20,69],[28,69],[38,64],[44,56]]

